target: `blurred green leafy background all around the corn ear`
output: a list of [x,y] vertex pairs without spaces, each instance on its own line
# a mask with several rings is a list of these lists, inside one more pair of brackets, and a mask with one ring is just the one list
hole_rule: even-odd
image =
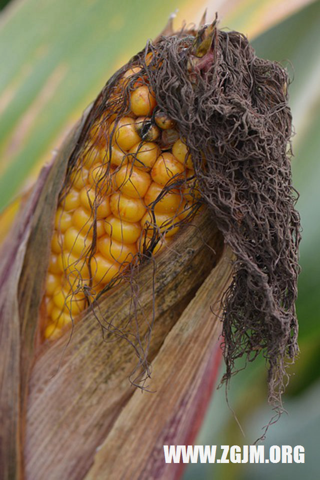
[[[32,183],[66,131],[121,64],[162,30],[170,13],[198,22],[204,7],[240,30],[259,57],[277,60],[293,80],[293,180],[303,239],[297,313],[300,356],[290,368],[283,414],[265,445],[300,444],[305,464],[189,465],[184,480],[315,478],[320,431],[320,1],[13,0],[0,3],[0,211]],[[3,218],[3,217],[2,217]],[[0,217],[1,221],[1,217]],[[4,222],[0,226],[0,230]],[[3,227],[4,228],[4,227]],[[222,373],[222,369],[221,369]],[[214,391],[198,444],[250,444],[272,415],[262,361],[236,375],[228,392],[245,436]]]

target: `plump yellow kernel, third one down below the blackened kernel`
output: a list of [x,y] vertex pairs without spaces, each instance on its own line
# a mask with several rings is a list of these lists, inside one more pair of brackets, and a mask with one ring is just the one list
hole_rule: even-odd
[[139,198],[130,198],[116,192],[110,197],[110,209],[115,217],[135,223],[141,220],[146,207]]

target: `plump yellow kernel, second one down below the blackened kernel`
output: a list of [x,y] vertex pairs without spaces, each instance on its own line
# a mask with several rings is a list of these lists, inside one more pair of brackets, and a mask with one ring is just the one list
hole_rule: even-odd
[[150,183],[150,175],[131,164],[124,165],[115,174],[116,187],[131,198],[143,198]]

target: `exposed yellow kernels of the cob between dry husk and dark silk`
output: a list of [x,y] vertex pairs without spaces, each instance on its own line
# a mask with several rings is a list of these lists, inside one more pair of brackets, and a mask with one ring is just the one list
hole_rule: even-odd
[[168,245],[196,210],[187,147],[140,70],[128,69],[111,96],[116,105],[127,89],[129,110],[124,116],[106,110],[96,119],[61,192],[44,339],[58,338],[130,265]]

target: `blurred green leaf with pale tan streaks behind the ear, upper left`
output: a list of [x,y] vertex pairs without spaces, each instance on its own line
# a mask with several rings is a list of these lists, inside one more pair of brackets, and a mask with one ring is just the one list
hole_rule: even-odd
[[[257,35],[307,0],[19,0],[0,17],[0,210],[27,188],[105,80],[162,31],[172,9],[198,22],[207,7],[221,26]],[[24,28],[32,18],[32,28]],[[251,25],[254,21],[254,31]]]

